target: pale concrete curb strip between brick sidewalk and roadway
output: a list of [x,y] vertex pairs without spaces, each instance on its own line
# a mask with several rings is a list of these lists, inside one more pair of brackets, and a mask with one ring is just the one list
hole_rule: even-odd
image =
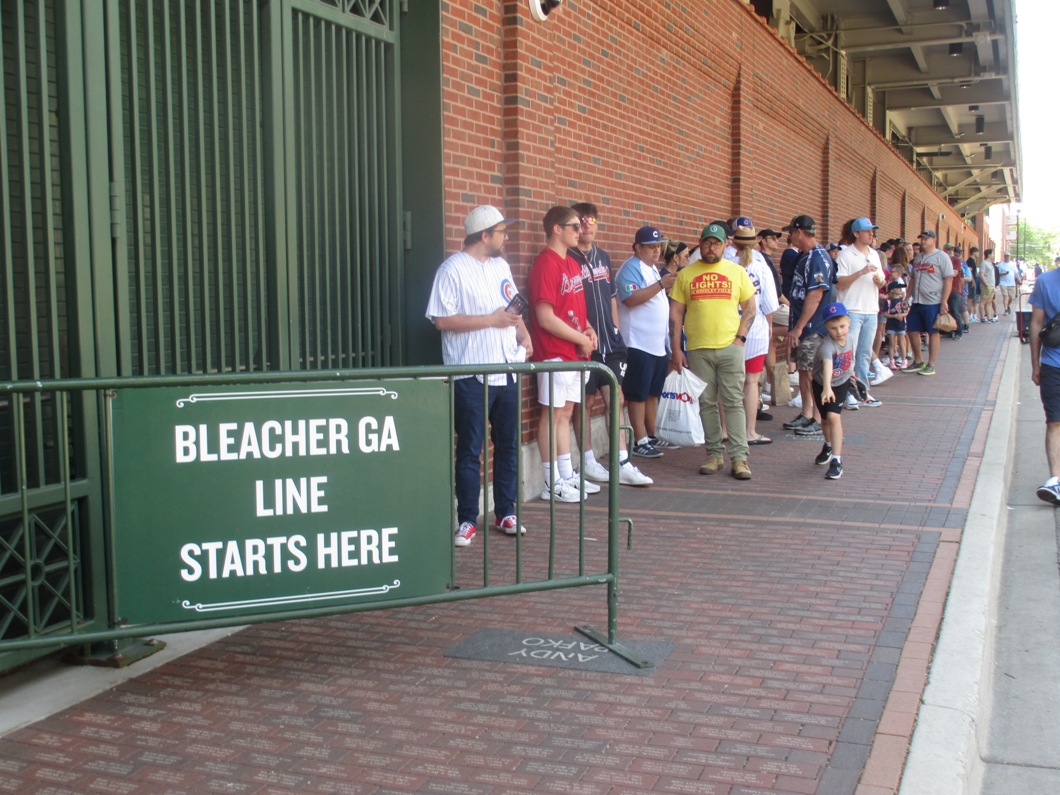
[[[986,771],[978,731],[982,690],[991,669],[991,630],[1008,527],[1006,495],[1012,470],[1020,353],[1020,341],[1013,337],[905,761],[901,795],[954,795],[982,788]],[[997,477],[999,473],[1004,477]]]

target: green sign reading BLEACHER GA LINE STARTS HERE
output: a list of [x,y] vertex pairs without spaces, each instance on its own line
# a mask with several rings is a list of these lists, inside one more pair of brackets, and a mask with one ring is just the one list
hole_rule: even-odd
[[128,623],[445,593],[445,382],[118,390],[114,579]]

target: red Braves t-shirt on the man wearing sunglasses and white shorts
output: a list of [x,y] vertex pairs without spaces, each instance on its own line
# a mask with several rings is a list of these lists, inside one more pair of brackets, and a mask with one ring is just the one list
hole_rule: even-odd
[[585,294],[582,292],[582,269],[570,257],[560,257],[546,248],[530,268],[530,338],[533,340],[533,360],[562,359],[577,361],[579,356],[573,342],[568,342],[537,325],[534,308],[540,303],[552,304],[552,312],[573,328],[585,329]]

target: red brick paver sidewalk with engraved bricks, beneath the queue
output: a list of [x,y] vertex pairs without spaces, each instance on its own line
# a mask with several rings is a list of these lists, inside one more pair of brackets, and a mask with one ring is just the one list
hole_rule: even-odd
[[842,480],[793,409],[759,424],[749,482],[700,450],[642,464],[619,629],[673,644],[650,674],[444,656],[482,628],[603,629],[596,587],[258,625],[0,739],[0,791],[890,792],[1011,334],[973,326],[845,413]]

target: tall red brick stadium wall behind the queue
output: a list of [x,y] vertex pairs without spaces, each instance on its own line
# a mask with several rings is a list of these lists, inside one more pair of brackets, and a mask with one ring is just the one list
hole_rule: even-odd
[[545,211],[580,200],[600,206],[616,266],[643,224],[693,241],[736,214],[779,229],[807,213],[823,241],[868,215],[881,238],[926,223],[943,243],[974,242],[738,0],[567,0],[545,23],[525,0],[448,0],[442,16],[446,248],[472,207],[498,205],[520,222],[507,249],[517,281]]

